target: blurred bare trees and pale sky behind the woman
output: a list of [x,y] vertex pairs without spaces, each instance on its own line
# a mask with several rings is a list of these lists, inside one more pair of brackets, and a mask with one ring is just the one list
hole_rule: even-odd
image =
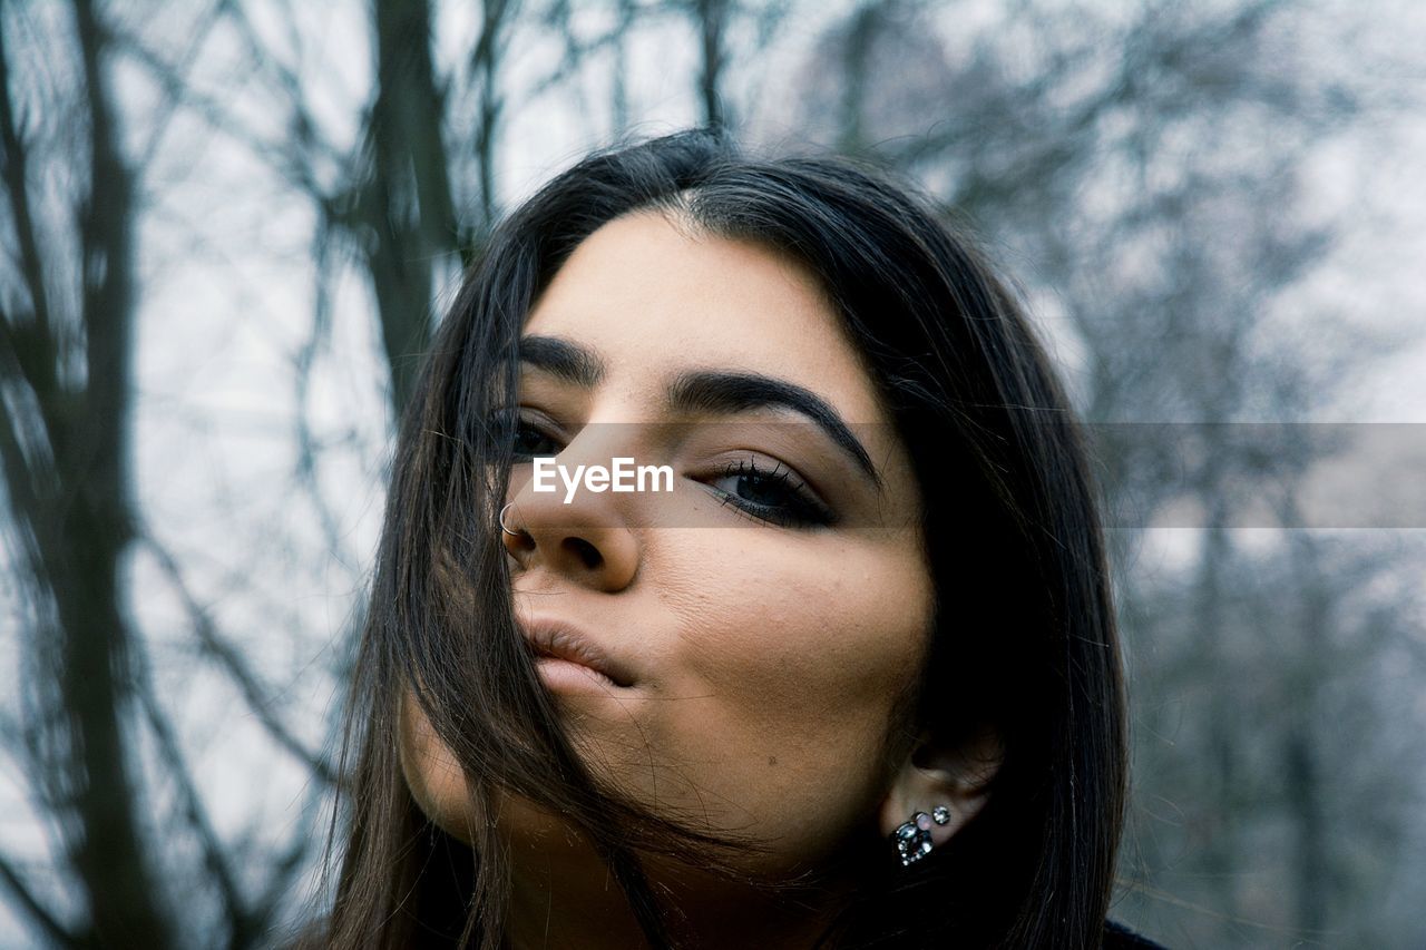
[[1117,512],[1115,916],[1426,944],[1426,556],[1303,529],[1306,424],[1423,375],[1423,14],[0,0],[0,944],[271,946],[311,913],[434,321],[539,181],[694,123],[903,173],[1041,320]]

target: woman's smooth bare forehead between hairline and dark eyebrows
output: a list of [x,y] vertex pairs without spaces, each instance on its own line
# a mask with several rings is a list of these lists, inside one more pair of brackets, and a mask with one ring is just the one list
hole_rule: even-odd
[[596,351],[610,387],[646,397],[689,368],[740,369],[811,389],[848,422],[887,421],[860,354],[806,267],[655,211],[616,218],[586,238],[525,332]]

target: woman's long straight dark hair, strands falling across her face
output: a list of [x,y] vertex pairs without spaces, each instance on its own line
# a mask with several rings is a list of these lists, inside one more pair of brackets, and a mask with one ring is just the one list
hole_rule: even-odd
[[[1122,679],[1097,499],[1048,359],[928,200],[846,160],[753,160],[712,131],[558,175],[495,231],[439,330],[401,427],[355,672],[329,943],[501,940],[509,857],[491,822],[466,849],[414,803],[398,757],[405,689],[478,814],[513,792],[578,816],[653,946],[676,943],[676,929],[639,854],[727,844],[586,772],[513,625],[493,528],[511,456],[491,419],[515,391],[522,322],[580,241],[647,208],[790,254],[820,278],[924,498],[937,630],[914,725],[950,742],[988,726],[1002,745],[985,807],[925,860],[890,862],[826,941],[1098,947],[1125,796]],[[951,602],[954,625],[941,622]]]

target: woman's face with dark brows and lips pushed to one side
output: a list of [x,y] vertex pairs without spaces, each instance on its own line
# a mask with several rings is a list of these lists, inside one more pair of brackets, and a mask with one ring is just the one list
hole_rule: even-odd
[[[672,491],[512,478],[518,620],[586,762],[767,846],[766,870],[877,832],[934,591],[906,449],[816,280],[633,214],[560,268],[522,355],[532,455],[673,469]],[[459,834],[465,789],[434,743],[408,716],[412,790]]]

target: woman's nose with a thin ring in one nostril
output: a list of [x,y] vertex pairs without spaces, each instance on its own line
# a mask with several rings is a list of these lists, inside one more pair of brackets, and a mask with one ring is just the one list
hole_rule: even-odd
[[519,571],[543,568],[606,593],[629,586],[639,571],[639,539],[609,492],[579,486],[569,504],[565,498],[563,485],[536,492],[530,479],[501,511],[501,539]]

